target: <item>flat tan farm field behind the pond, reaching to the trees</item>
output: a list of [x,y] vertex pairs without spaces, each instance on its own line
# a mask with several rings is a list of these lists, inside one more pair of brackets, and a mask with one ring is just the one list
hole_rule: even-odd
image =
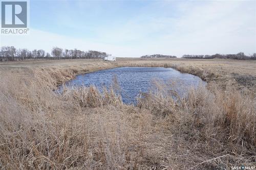
[[208,79],[207,81],[217,80],[218,83],[226,84],[228,80],[235,79],[240,85],[246,87],[252,86],[253,89],[256,84],[256,61],[254,60],[118,58],[116,62],[104,62],[101,59],[0,62],[0,70],[13,71],[16,68],[54,67],[75,69],[76,74],[120,66],[172,67],[182,72],[197,75],[202,79]]

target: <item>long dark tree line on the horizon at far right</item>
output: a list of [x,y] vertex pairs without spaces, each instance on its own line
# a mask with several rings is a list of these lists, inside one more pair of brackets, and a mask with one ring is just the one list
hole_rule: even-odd
[[191,59],[234,59],[234,60],[256,60],[256,53],[246,56],[244,53],[238,54],[215,54],[215,55],[183,55],[182,58],[191,58]]

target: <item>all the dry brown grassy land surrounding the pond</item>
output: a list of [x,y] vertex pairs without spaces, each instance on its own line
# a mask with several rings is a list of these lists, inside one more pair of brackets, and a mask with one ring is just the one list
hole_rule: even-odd
[[[75,75],[173,67],[207,87],[172,99],[166,85],[128,106],[115,88],[66,89]],[[34,60],[0,63],[1,169],[231,169],[256,166],[256,61]]]

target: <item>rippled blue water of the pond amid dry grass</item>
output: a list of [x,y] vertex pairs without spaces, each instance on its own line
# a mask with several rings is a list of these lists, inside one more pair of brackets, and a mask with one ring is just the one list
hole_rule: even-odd
[[[200,84],[206,84],[197,76],[183,74],[173,68],[119,67],[78,75],[66,85],[68,87],[95,85],[102,89],[103,86],[113,85],[113,79],[117,80],[123,103],[126,104],[136,104],[136,96],[140,92],[154,90],[156,88],[154,81],[172,84],[168,88],[176,90],[180,95],[186,95],[191,87],[196,88]],[[62,86],[59,90],[62,91]]]

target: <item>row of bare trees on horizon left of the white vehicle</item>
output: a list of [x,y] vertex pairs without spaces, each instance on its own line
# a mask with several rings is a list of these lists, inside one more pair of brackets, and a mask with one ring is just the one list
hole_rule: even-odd
[[63,50],[59,47],[53,47],[51,54],[44,50],[29,51],[26,48],[16,49],[14,46],[2,46],[0,51],[0,61],[17,61],[26,59],[95,59],[110,56],[104,52]]

